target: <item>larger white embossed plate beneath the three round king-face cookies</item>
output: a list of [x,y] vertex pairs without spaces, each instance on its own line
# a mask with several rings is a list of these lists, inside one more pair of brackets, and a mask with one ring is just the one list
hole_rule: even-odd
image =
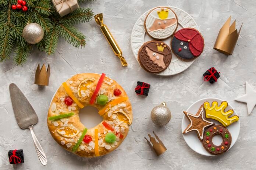
[[[176,15],[178,17],[178,29],[177,30],[180,30],[184,27],[185,28],[190,27],[190,28],[195,28],[195,29],[199,30],[199,27],[196,24],[195,20],[188,13],[186,13],[185,11],[183,11],[177,7],[171,7],[171,6],[166,6],[166,7],[171,8],[176,13]],[[136,23],[132,29],[131,47],[132,47],[132,52],[134,53],[134,57],[137,61],[138,61],[139,49],[144,44],[144,42],[153,40],[153,38],[150,38],[146,34],[146,31],[144,29],[145,18],[151,10],[153,10],[153,8],[148,10],[147,12],[145,12],[143,15],[141,15],[141,17],[139,17],[139,19],[136,21]],[[164,42],[170,46],[171,45],[171,37],[164,40]],[[171,56],[172,56],[172,59],[171,59],[171,63],[168,66],[168,68],[164,71],[161,71],[160,73],[155,73],[155,74],[157,74],[157,75],[175,75],[175,74],[181,73],[182,71],[188,69],[188,67],[191,66],[191,64],[195,61],[195,60],[183,61],[181,59],[178,59],[174,55],[173,52],[172,52]],[[138,63],[139,63],[139,61],[138,61]]]

